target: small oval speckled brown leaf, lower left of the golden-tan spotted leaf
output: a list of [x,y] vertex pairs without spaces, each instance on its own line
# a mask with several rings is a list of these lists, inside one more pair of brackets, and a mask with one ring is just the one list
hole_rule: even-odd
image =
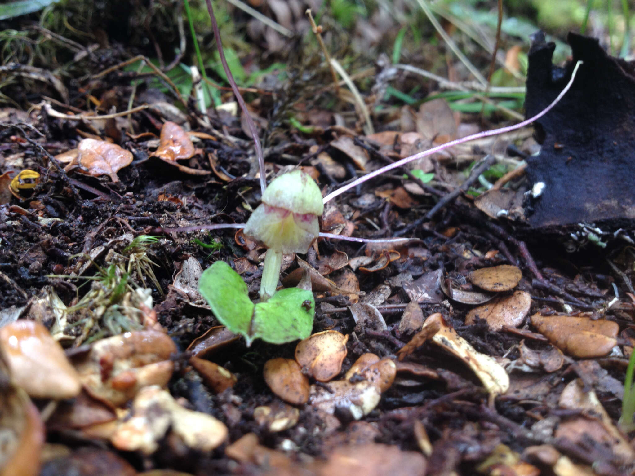
[[278,397],[291,405],[303,405],[309,399],[309,379],[292,359],[269,359],[263,369],[265,382]]

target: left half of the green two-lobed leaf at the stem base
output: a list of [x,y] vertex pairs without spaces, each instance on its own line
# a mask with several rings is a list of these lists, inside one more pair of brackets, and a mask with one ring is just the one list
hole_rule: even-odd
[[254,305],[243,278],[225,261],[216,261],[204,270],[199,279],[199,293],[208,303],[218,321],[250,341]]

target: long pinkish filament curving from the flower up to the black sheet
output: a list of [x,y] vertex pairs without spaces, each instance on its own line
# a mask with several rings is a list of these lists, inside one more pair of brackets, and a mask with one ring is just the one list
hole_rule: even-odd
[[450,142],[446,142],[445,144],[432,147],[432,149],[424,150],[423,152],[418,152],[418,154],[410,155],[410,157],[406,157],[405,159],[401,159],[400,161],[394,162],[394,164],[389,164],[385,167],[382,167],[373,172],[370,172],[364,176],[361,176],[357,180],[353,180],[348,185],[338,188],[337,190],[326,195],[326,197],[324,197],[323,199],[323,202],[326,203],[334,199],[338,195],[343,194],[347,190],[350,190],[351,188],[357,187],[359,184],[366,182],[366,180],[370,180],[371,178],[381,175],[382,173],[385,173],[389,170],[399,168],[403,166],[404,164],[407,164],[408,162],[416,161],[417,159],[421,159],[422,157],[427,157],[428,155],[436,154],[437,152],[441,152],[441,150],[448,149],[449,147],[452,147],[454,145],[470,142],[471,140],[475,140],[475,139],[481,139],[485,137],[490,137],[490,136],[495,136],[495,135],[515,131],[516,129],[520,129],[525,126],[528,126],[532,122],[537,121],[538,119],[540,119],[540,117],[547,114],[547,112],[549,112],[556,104],[558,104],[558,102],[563,98],[566,92],[571,88],[573,84],[573,80],[575,79],[575,75],[577,74],[578,68],[580,67],[581,64],[582,64],[582,61],[578,61],[576,63],[575,67],[573,68],[571,79],[569,79],[569,82],[566,84],[565,88],[560,92],[558,97],[556,97],[556,99],[554,99],[551,104],[545,107],[545,109],[543,109],[542,111],[538,112],[538,114],[536,114],[535,116],[530,117],[529,119],[526,119],[523,122],[518,122],[518,124],[514,124],[512,126],[507,126],[500,129],[492,129],[491,131],[482,131],[477,134],[472,134],[469,136],[462,137],[460,139],[451,140]]

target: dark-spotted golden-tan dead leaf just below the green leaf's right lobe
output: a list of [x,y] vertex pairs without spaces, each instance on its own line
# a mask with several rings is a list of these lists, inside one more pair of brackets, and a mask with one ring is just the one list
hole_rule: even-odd
[[348,335],[337,331],[312,334],[298,342],[295,347],[295,360],[305,375],[320,382],[328,382],[342,370],[348,340]]

